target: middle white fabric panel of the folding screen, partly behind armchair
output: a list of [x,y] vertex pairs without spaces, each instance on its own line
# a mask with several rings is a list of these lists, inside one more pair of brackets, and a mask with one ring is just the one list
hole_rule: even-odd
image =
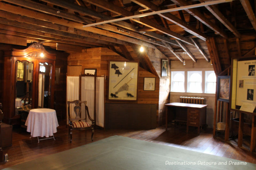
[[[88,107],[89,115],[94,119],[94,77],[82,77],[81,79],[81,100],[87,101],[86,106]],[[84,107],[81,109],[82,118],[84,118],[85,110]],[[86,122],[92,124],[88,119]]]

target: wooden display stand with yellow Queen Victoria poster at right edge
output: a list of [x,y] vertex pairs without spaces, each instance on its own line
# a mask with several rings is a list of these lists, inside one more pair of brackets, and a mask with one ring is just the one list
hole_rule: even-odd
[[[256,95],[250,96],[247,92],[251,90],[256,92],[256,85],[254,83],[255,77],[255,60],[256,55],[237,57],[232,59],[231,63],[231,95],[230,95],[230,111],[239,114],[238,125],[238,146],[242,147],[243,132],[244,132],[244,115],[252,115],[252,128],[251,128],[251,144],[250,152],[255,152],[256,146],[256,112],[255,101]],[[240,85],[241,84],[241,85]],[[255,89],[255,90],[254,90]],[[247,94],[247,96],[246,96]],[[247,105],[246,107],[244,105]],[[244,108],[243,108],[244,106]],[[248,109],[251,107],[251,110]],[[254,109],[254,110],[253,110]]]

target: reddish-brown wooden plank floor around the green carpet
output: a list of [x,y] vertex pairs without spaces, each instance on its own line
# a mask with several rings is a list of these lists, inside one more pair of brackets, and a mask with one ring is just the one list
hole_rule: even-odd
[[[68,128],[65,122],[60,122],[57,133],[54,134],[56,140],[48,139],[37,143],[36,137],[30,137],[26,130],[14,128],[12,133],[12,146],[5,147],[4,153],[8,153],[9,161],[0,163],[0,169],[13,166],[25,161],[33,160],[42,156],[58,153],[84,144],[91,143],[91,131],[73,131],[72,143],[69,143]],[[165,127],[158,127],[150,130],[123,130],[123,129],[95,129],[94,141],[98,141],[113,135],[131,137],[157,144],[178,147],[196,152],[203,152],[221,157],[227,157],[246,162],[256,163],[256,154],[250,153],[247,148],[237,147],[236,140],[228,143],[223,142],[223,138],[213,138],[212,130],[200,130],[197,135],[197,129],[190,127],[189,133],[186,133],[186,126],[172,125],[165,131]]]

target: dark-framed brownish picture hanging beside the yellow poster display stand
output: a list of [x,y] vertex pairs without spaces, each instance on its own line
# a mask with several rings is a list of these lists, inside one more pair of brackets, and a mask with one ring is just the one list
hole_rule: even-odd
[[229,102],[230,76],[218,76],[217,99]]

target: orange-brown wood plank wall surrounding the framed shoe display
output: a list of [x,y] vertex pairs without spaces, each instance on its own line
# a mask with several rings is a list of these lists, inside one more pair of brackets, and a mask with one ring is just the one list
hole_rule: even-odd
[[[129,48],[127,48],[129,51]],[[105,103],[133,103],[133,104],[156,104],[156,114],[158,114],[159,105],[159,78],[147,70],[139,67],[138,74],[138,100],[137,101],[109,101],[108,100],[108,62],[109,61],[128,61],[124,57],[108,48],[91,48],[82,53],[71,53],[68,56],[68,65],[81,64],[82,71],[88,65],[91,68],[97,68],[97,76],[106,76],[104,84]],[[160,63],[160,61],[158,61]],[[160,70],[160,67],[159,67]],[[155,77],[155,91],[144,91],[144,77]],[[106,120],[107,121],[107,120]]]

